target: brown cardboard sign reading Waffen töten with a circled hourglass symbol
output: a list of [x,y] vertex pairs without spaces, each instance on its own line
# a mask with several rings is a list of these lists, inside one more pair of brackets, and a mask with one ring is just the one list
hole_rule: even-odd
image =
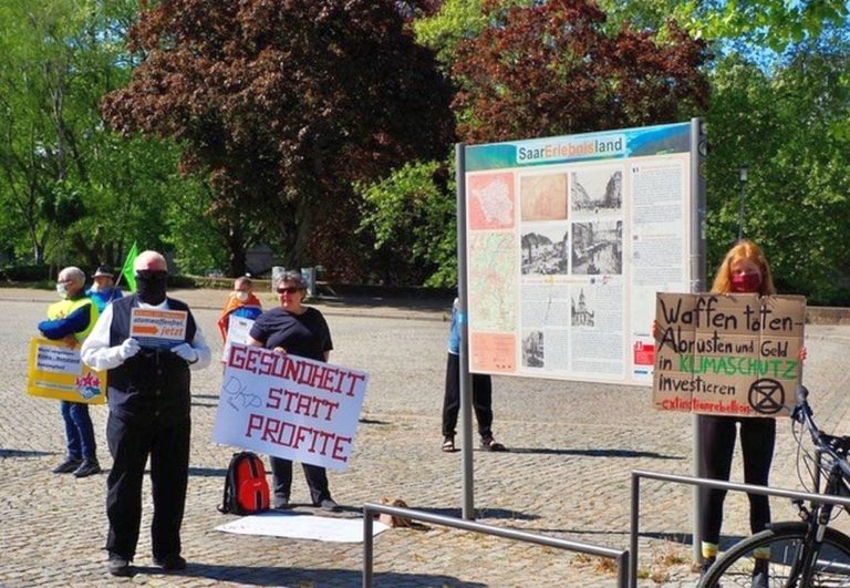
[[787,415],[802,378],[806,298],[656,296],[656,409],[734,416]]

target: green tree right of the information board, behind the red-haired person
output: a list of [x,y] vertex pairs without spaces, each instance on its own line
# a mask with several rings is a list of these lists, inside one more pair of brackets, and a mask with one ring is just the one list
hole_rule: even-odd
[[850,301],[850,55],[800,47],[773,74],[733,55],[713,73],[708,113],[709,267],[737,238],[738,167],[749,166],[744,235],[763,245],[781,291]]

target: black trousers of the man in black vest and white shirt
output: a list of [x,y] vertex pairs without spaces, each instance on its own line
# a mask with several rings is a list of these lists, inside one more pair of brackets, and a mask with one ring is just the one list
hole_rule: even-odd
[[133,559],[142,522],[142,482],[151,456],[154,517],[151,525],[153,556],[180,553],[180,525],[189,478],[191,422],[163,425],[127,422],[110,414],[106,441],[113,465],[106,479],[106,549]]

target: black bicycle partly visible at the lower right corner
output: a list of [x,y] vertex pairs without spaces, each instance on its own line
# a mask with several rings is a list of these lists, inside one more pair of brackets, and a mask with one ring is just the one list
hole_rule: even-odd
[[[808,394],[805,386],[797,388],[791,413],[791,431],[798,447],[797,475],[806,486],[800,470],[804,464],[815,486],[808,492],[850,497],[850,436],[820,431],[812,419]],[[813,452],[802,446],[806,431],[815,445]],[[801,520],[774,523],[738,543],[714,563],[698,586],[850,587],[850,537],[828,526],[835,518],[836,505],[811,502],[806,506],[801,499],[792,503]]]

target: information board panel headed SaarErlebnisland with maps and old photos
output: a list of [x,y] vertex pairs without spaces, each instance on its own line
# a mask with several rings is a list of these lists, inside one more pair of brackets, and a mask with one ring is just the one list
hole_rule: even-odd
[[691,291],[694,125],[464,149],[469,371],[652,385]]

